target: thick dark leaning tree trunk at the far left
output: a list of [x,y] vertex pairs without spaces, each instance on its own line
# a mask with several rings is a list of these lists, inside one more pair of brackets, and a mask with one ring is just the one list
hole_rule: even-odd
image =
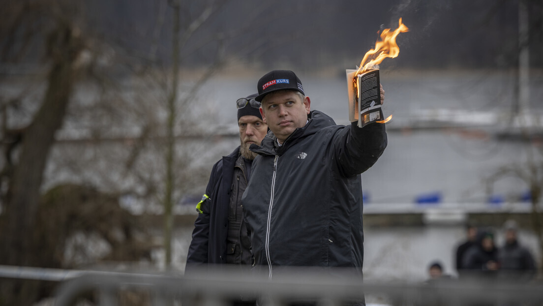
[[[47,51],[52,59],[48,86],[40,109],[23,135],[21,151],[9,183],[5,214],[2,215],[3,264],[34,265],[40,256],[34,249],[37,204],[43,171],[56,130],[62,126],[74,84],[74,61],[80,51],[77,36],[70,24],[58,22],[48,37]],[[4,286],[5,285],[5,286]],[[30,304],[36,298],[36,284],[4,283],[4,303]],[[15,298],[10,301],[10,298]]]

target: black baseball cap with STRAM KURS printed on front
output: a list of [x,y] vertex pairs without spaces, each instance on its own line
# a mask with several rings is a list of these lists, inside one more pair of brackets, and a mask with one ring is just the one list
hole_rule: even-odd
[[262,102],[262,98],[270,92],[277,90],[295,90],[305,96],[302,82],[296,74],[290,70],[270,71],[258,80],[258,96],[256,101]]

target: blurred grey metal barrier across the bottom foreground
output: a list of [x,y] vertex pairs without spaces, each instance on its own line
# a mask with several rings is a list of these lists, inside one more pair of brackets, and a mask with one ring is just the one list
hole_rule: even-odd
[[89,291],[98,304],[129,305],[123,292],[139,296],[137,305],[232,305],[257,300],[258,305],[301,303],[319,306],[381,301],[384,305],[543,305],[543,284],[490,282],[488,279],[444,280],[431,284],[362,282],[352,271],[289,268],[272,279],[239,268],[191,270],[184,276],[88,273],[64,282],[56,305],[73,305]]

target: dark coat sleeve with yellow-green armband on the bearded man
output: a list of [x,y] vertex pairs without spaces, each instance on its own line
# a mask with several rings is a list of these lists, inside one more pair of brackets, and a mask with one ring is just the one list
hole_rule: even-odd
[[209,245],[209,225],[210,225],[210,205],[213,197],[212,191],[217,178],[217,165],[213,165],[209,182],[207,183],[205,195],[208,198],[202,198],[200,210],[196,221],[194,221],[194,230],[192,232],[191,245],[188,248],[187,267],[190,265],[206,264],[208,258]]

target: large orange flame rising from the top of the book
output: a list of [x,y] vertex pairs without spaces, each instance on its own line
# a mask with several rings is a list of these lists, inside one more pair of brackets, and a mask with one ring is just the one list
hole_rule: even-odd
[[[400,33],[407,32],[408,30],[406,25],[402,23],[402,18],[400,18],[398,28],[393,32],[390,32],[390,29],[384,29],[381,33],[381,40],[375,42],[375,49],[371,49],[364,55],[355,76],[371,70],[375,65],[381,64],[385,58],[397,57],[400,53],[400,47],[398,47],[396,43],[396,36]],[[371,60],[369,60],[370,58]],[[368,63],[366,63],[366,61],[368,61]]]

